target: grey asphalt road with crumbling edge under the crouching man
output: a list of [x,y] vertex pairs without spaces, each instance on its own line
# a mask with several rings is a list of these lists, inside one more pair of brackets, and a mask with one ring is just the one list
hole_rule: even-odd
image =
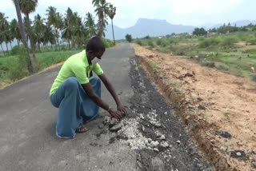
[[[131,110],[136,109],[141,113],[143,111],[147,113],[150,104],[154,103],[152,108],[161,108],[173,115],[172,110],[155,89],[154,83],[138,66],[134,57],[134,49],[130,44],[122,44],[106,50],[101,66],[123,103]],[[115,134],[109,133],[106,127],[99,128],[103,118],[107,115],[102,110],[100,116],[87,125],[90,131],[79,133],[74,139],[59,139],[55,136],[58,109],[50,104],[49,99],[50,86],[58,70],[60,67],[34,75],[0,90],[0,170],[209,169],[208,165],[198,161],[201,155],[194,152],[184,129],[175,118],[172,119],[174,124],[167,123],[164,118],[162,125],[170,124],[175,128],[178,127],[177,131],[168,130],[168,132],[163,128],[159,129],[166,134],[166,141],[174,144],[174,148],[168,149],[168,153],[166,149],[160,152],[149,149],[134,150],[124,141],[110,141]],[[138,74],[142,77],[140,81],[137,80]],[[146,80],[143,80],[144,78]],[[147,93],[140,90],[141,88],[147,89],[148,86]],[[152,95],[154,97],[150,97]],[[115,107],[110,93],[105,88],[102,90],[102,98]],[[140,103],[143,104],[143,108],[148,107],[142,109]],[[131,117],[137,116],[131,114],[129,118]],[[162,117],[159,118],[161,121]],[[146,125],[144,122],[141,122],[142,125]],[[143,135],[154,139],[154,131],[155,129],[149,128]],[[177,138],[180,138],[182,145],[176,145]],[[164,156],[165,153],[168,155],[172,153],[168,160]]]

